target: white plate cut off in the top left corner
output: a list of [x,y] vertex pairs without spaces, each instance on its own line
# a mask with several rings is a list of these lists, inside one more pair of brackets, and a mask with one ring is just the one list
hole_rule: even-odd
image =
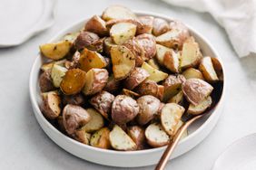
[[19,45],[54,24],[56,0],[1,0],[0,47]]

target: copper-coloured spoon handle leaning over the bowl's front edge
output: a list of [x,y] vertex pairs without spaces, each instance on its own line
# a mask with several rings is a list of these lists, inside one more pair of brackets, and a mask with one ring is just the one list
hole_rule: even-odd
[[202,115],[198,115],[189,121],[185,122],[182,127],[178,130],[178,132],[174,135],[172,142],[170,142],[165,149],[164,153],[162,154],[162,157],[158,164],[155,167],[155,170],[163,170],[167,161],[169,160],[169,157],[172,155],[172,152],[174,148],[177,146],[179,143],[180,138],[182,137],[182,133],[192,124],[193,121],[195,121],[198,118],[201,118]]

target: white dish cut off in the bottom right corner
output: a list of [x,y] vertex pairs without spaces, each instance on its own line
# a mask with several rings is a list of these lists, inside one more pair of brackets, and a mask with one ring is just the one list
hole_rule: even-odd
[[225,149],[212,170],[255,170],[256,133],[241,137]]

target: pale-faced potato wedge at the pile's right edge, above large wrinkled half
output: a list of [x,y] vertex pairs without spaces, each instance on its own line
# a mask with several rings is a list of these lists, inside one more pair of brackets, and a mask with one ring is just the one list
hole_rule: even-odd
[[211,82],[219,80],[217,73],[213,68],[211,57],[202,58],[201,63],[199,64],[199,70],[202,71],[205,80]]

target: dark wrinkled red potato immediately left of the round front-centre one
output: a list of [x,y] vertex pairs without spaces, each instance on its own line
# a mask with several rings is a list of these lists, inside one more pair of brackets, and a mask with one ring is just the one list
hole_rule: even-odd
[[94,109],[103,115],[104,118],[109,119],[113,99],[113,94],[107,91],[101,91],[97,93],[92,99],[90,99],[90,103],[93,105]]

